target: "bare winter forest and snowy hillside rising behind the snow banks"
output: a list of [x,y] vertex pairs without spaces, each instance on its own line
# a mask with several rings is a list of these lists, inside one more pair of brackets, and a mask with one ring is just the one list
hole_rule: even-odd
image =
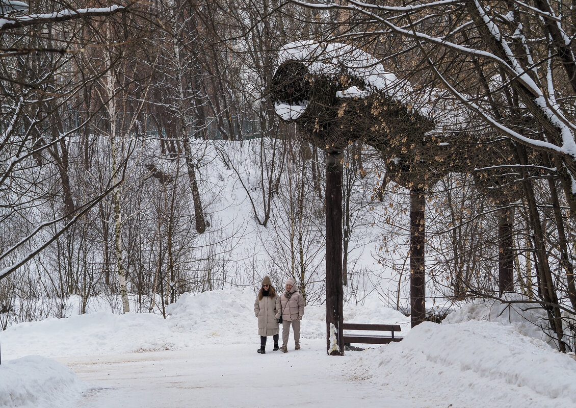
[[420,321],[521,303],[574,353],[573,3],[0,5],[2,330],[264,275],[323,305],[338,151],[344,301],[408,316],[418,275]]

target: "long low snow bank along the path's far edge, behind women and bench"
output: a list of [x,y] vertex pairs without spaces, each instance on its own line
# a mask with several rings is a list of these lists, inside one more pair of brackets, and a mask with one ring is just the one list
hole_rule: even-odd
[[[183,294],[166,306],[166,319],[153,313],[100,311],[16,324],[2,333],[2,352],[5,358],[29,354],[70,357],[251,343],[258,339],[255,300],[252,289],[224,289]],[[367,299],[363,305],[345,304],[344,321],[400,324],[403,335],[410,330],[410,318],[382,307],[378,299]],[[325,306],[307,306],[301,336],[325,335]]]

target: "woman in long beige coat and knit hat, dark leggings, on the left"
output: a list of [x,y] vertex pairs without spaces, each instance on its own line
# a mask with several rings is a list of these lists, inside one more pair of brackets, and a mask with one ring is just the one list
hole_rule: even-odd
[[268,336],[272,336],[274,339],[274,351],[278,350],[280,297],[267,276],[262,280],[262,287],[256,296],[254,313],[258,318],[258,334],[260,335],[258,353],[266,354],[266,338]]

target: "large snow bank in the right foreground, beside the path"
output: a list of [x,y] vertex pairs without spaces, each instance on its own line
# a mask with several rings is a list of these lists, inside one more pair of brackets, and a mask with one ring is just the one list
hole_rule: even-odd
[[501,323],[425,322],[346,365],[380,386],[427,396],[434,407],[576,407],[576,361]]

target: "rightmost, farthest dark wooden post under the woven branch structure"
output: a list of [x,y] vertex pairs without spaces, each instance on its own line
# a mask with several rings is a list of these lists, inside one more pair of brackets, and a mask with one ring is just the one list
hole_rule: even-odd
[[498,211],[498,289],[500,294],[514,290],[514,209]]

